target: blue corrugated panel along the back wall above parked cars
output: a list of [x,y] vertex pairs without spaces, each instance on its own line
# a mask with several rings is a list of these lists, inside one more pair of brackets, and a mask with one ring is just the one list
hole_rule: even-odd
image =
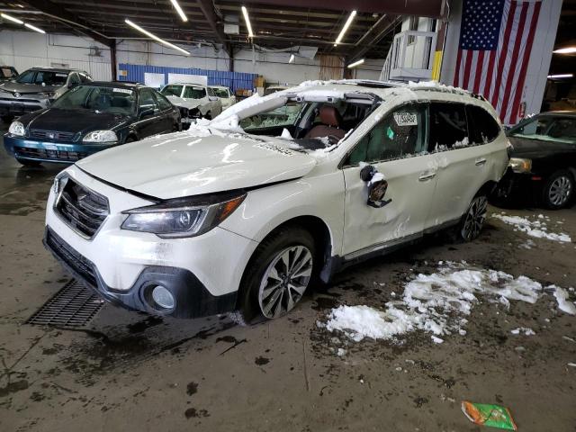
[[225,85],[230,87],[233,92],[238,89],[251,90],[254,87],[254,78],[257,77],[257,74],[198,69],[195,67],[164,67],[121,63],[118,68],[126,71],[126,76],[119,76],[120,81],[134,81],[144,84],[144,74],[146,72],[164,74],[166,83],[168,82],[168,74],[204,75],[208,76],[208,85]]

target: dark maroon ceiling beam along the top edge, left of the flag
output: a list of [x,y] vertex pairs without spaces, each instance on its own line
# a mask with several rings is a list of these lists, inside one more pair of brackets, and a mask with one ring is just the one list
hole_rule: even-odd
[[[351,11],[378,14],[418,15],[439,18],[444,0],[341,0],[339,2],[321,2],[314,7],[310,0],[245,0],[244,4],[273,4],[286,8],[302,7],[306,9],[329,9],[333,11]],[[318,2],[320,4],[320,2]]]

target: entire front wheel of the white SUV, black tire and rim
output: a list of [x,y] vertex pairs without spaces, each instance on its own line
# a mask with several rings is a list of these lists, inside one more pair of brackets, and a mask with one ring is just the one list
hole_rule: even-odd
[[240,324],[257,318],[282,317],[300,300],[317,266],[314,238],[306,229],[278,229],[257,247],[242,278],[238,311],[231,318]]

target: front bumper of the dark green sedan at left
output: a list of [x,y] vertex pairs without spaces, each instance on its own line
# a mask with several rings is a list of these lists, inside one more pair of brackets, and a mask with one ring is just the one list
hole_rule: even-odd
[[4,135],[4,148],[10,155],[40,162],[71,164],[110,147],[110,144],[68,144],[18,138],[10,133]]

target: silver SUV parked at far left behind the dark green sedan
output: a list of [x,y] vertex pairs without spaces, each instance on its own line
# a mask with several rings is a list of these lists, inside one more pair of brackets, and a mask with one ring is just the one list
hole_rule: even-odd
[[0,115],[5,122],[26,112],[41,110],[58,99],[68,88],[91,82],[83,70],[32,67],[16,79],[0,85]]

